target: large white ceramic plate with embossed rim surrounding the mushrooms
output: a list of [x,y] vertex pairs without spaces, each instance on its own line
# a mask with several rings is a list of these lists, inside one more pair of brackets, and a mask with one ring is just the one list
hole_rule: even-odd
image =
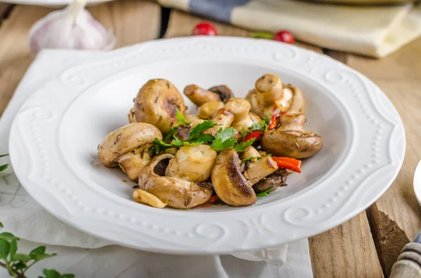
[[[128,123],[150,78],[180,90],[227,84],[245,97],[272,73],[307,100],[307,130],[323,148],[288,186],[250,207],[154,209],[132,200],[135,183],[103,167],[97,146]],[[192,103],[187,101],[189,107]],[[316,235],[366,209],[399,172],[405,134],[382,91],[344,64],[274,41],[192,37],[142,43],[67,69],[34,92],[15,118],[10,154],[18,179],[62,221],[118,244],[164,253],[231,253]]]

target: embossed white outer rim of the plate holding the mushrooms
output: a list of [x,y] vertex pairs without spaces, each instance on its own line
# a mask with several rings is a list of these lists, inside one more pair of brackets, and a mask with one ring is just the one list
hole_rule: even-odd
[[[356,139],[367,139],[369,141],[363,143],[364,146],[367,145],[370,148],[370,153],[373,152],[373,158],[364,158],[363,161],[366,164],[361,165],[361,167],[360,165],[352,165],[352,167],[355,167],[355,173],[351,173],[352,176],[347,176],[343,181],[342,177],[338,180],[338,184],[343,183],[342,188],[345,189],[341,189],[342,191],[337,191],[338,188],[330,190],[329,194],[332,194],[329,197],[330,199],[314,200],[312,204],[308,204],[308,200],[312,200],[309,198],[314,199],[314,194],[317,191],[311,190],[312,192],[305,192],[295,198],[298,202],[296,207],[288,207],[287,209],[285,205],[283,207],[279,205],[265,206],[265,213],[262,213],[262,209],[253,209],[248,219],[239,220],[235,218],[235,214],[227,214],[225,218],[210,217],[210,219],[213,219],[211,223],[187,223],[185,221],[184,224],[187,228],[180,227],[178,223],[161,225],[155,219],[148,223],[149,218],[137,219],[135,212],[139,211],[133,211],[127,206],[107,203],[102,204],[105,207],[103,209],[96,204],[91,204],[90,200],[83,200],[85,196],[73,193],[72,188],[66,188],[60,181],[60,177],[53,179],[51,176],[55,173],[51,176],[48,176],[47,172],[44,173],[42,166],[48,160],[51,160],[48,156],[54,159],[53,150],[49,150],[50,153],[48,151],[43,153],[43,149],[39,148],[41,151],[35,159],[39,163],[32,162],[33,165],[31,165],[30,160],[25,159],[25,155],[36,151],[35,149],[38,146],[36,144],[44,144],[41,136],[47,137],[48,132],[52,132],[52,128],[46,128],[45,124],[39,125],[39,121],[43,117],[42,107],[49,104],[39,102],[39,100],[36,101],[36,97],[41,97],[41,99],[43,97],[43,93],[36,90],[34,96],[25,102],[16,116],[10,138],[11,161],[15,166],[15,173],[29,194],[63,221],[99,237],[111,239],[121,245],[163,253],[232,253],[267,248],[328,230],[328,228],[332,228],[366,209],[385,192],[396,178],[403,162],[405,134],[399,114],[389,99],[377,86],[356,71],[329,57],[297,46],[273,41],[229,37],[194,37],[152,41],[115,50],[109,53],[109,57],[105,60],[91,60],[86,64],[67,69],[60,78],[45,86],[51,91],[73,92],[77,96],[102,79],[114,76],[123,70],[131,69],[140,62],[153,59],[153,57],[161,59],[163,57],[165,59],[166,55],[195,57],[198,53],[221,55],[221,57],[229,55],[238,59],[248,59],[248,57],[253,56],[255,59],[259,58],[268,64],[279,63],[279,66],[294,68],[301,72],[301,76],[311,78],[312,81],[319,83],[322,87],[329,88],[330,91],[340,88],[342,95],[335,97],[340,97],[340,102],[344,105],[345,100],[347,100],[346,105],[349,106],[349,111],[354,111],[353,109],[356,108],[363,112],[360,114],[352,112],[355,115],[352,115],[350,120],[352,126],[355,125],[356,129],[364,127],[365,131],[369,131],[362,135],[360,132]],[[45,92],[45,94],[44,97],[48,95],[48,92]],[[67,100],[66,97],[68,97]],[[70,94],[63,95],[63,101],[70,101],[71,98],[69,97],[71,97]],[[38,106],[31,107],[31,104]],[[28,109],[34,109],[31,118],[25,118]],[[50,109],[53,110],[55,107],[50,107]],[[55,112],[60,115],[63,111],[58,109]],[[57,121],[54,113],[52,113],[51,118],[45,115],[44,117],[44,120],[51,120],[52,125]],[[61,117],[62,114],[58,118]],[[26,125],[28,131],[26,129],[25,131],[19,130],[22,125]],[[29,127],[32,128],[32,131],[29,131]],[[40,133],[37,129],[42,132]],[[368,134],[370,132],[373,134]],[[390,137],[387,137],[387,140],[377,139],[381,138],[382,132],[389,134]],[[35,136],[35,134],[38,135]],[[26,138],[22,135],[25,135]],[[371,137],[368,138],[368,136]],[[20,144],[22,139],[29,140],[27,144],[32,144],[34,148]],[[373,142],[373,146],[369,144],[371,142]],[[392,144],[398,147],[392,148]],[[20,148],[27,148],[27,150],[22,152]],[[354,150],[352,155],[359,155],[359,152],[361,151]],[[361,154],[368,156],[366,153]],[[385,161],[380,161],[382,155],[385,156]],[[60,160],[53,160],[53,162],[60,166]],[[51,165],[52,163],[48,162],[48,164]],[[375,165],[381,165],[381,167],[374,170]],[[59,166],[55,166],[59,172],[66,172]],[[35,172],[38,173],[33,177],[34,181],[29,181],[25,176],[30,167],[34,167]],[[365,181],[370,181],[373,176],[376,181],[373,182],[366,196],[356,197],[354,193],[349,193],[349,188],[353,188],[353,186],[357,191],[361,190],[359,185]],[[327,185],[324,183],[319,186]],[[343,196],[344,194],[347,195]],[[341,207],[338,201],[341,197],[353,199]],[[51,203],[46,202],[48,198]],[[64,204],[60,204],[60,213],[58,213],[53,202],[57,202],[60,198],[64,198],[62,199]],[[285,204],[289,203],[290,200],[286,200]],[[111,206],[111,209],[108,209],[107,205]],[[276,211],[279,212],[279,217],[269,217],[270,210],[276,207],[285,210]],[[161,215],[165,215],[165,212],[160,211],[154,214],[156,218],[160,218]],[[276,216],[278,215],[276,214]],[[270,221],[268,221],[268,218],[271,218]],[[114,221],[115,225],[109,226],[110,221]],[[119,237],[116,237],[116,232],[120,233]],[[253,237],[253,235],[258,235],[258,237]],[[131,239],[137,240],[133,242]]]

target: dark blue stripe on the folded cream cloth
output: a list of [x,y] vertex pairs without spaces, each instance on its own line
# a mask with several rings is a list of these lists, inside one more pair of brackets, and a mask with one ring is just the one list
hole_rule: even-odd
[[189,10],[206,18],[229,23],[232,10],[248,1],[250,0],[190,0]]

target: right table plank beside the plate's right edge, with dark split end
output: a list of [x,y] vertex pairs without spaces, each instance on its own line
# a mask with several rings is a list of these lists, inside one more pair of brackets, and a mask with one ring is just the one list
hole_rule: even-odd
[[[413,191],[413,174],[421,159],[421,39],[382,60],[349,55],[348,64],[374,81],[396,107],[406,133],[406,156],[396,180],[370,207],[378,223],[380,261],[389,274],[400,250],[421,229],[421,207]],[[393,228],[392,228],[393,227]],[[391,232],[393,231],[393,234]]]

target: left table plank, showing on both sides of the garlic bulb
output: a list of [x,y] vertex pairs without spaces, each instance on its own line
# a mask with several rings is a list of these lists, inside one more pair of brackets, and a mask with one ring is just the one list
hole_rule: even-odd
[[[91,6],[88,10],[107,29],[114,29],[116,47],[157,39],[161,8],[149,1],[120,0]],[[28,46],[30,27],[51,8],[16,5],[0,25],[0,113],[25,70],[34,59]]]

